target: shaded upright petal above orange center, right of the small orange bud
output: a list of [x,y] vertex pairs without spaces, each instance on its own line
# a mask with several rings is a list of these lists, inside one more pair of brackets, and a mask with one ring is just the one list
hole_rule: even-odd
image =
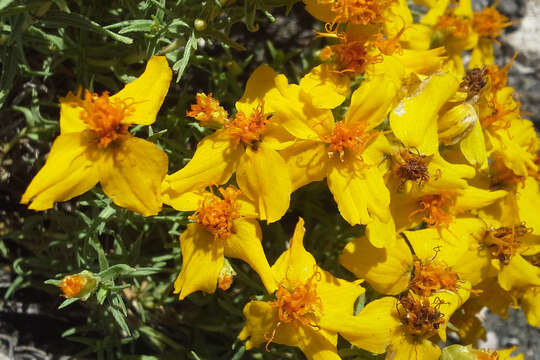
[[277,73],[268,65],[260,65],[253,71],[246,83],[244,95],[236,102],[236,109],[251,114],[265,94],[274,87]]

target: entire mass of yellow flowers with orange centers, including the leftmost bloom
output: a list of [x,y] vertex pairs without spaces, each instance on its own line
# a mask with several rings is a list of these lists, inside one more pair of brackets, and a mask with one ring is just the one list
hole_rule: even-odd
[[[481,337],[484,306],[502,316],[521,307],[540,326],[540,141],[507,85],[512,63],[493,58],[511,22],[470,0],[424,0],[418,23],[402,0],[304,1],[326,23],[323,63],[298,84],[259,66],[231,111],[197,94],[186,115],[214,131],[183,168],[167,175],[165,153],[129,132],[154,122],[169,87],[167,61],[153,57],[118,94],[61,99],[61,134],[21,202],[48,209],[100,182],[145,216],[162,203],[193,211],[175,293],[228,289],[226,257],[249,264],[267,294],[245,304],[248,349],[339,359],[340,334],[388,359],[430,360],[449,327],[465,344]],[[339,257],[362,280],[317,265],[301,218],[288,250],[267,261],[258,220],[279,221],[291,193],[321,180],[343,219],[365,226]],[[355,313],[363,281],[379,296]]]

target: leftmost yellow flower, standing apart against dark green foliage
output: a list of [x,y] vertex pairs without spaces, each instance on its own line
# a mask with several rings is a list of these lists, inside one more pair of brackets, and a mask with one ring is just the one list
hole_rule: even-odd
[[98,182],[115,204],[145,216],[161,210],[161,181],[167,155],[133,137],[132,124],[150,125],[169,89],[165,57],[153,57],[144,73],[119,93],[85,91],[60,99],[60,135],[21,203],[45,210],[90,190]]

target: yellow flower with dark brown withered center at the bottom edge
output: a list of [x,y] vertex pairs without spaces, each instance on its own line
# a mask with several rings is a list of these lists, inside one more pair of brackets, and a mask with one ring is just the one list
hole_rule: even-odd
[[[344,316],[340,334],[351,344],[393,360],[437,360],[441,349],[430,341],[446,341],[446,326],[454,311],[469,297],[441,291],[430,297],[412,293],[399,299],[383,297],[366,305],[356,316]],[[437,341],[437,338],[434,338]]]

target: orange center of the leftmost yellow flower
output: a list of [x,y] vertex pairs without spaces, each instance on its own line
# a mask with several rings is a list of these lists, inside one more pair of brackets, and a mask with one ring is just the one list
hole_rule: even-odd
[[99,139],[98,146],[106,147],[120,136],[129,134],[129,124],[123,121],[135,111],[133,103],[122,99],[111,100],[107,91],[98,95],[88,90],[84,91],[84,98],[79,90],[77,95],[70,92],[63,101],[83,108],[81,120]]

